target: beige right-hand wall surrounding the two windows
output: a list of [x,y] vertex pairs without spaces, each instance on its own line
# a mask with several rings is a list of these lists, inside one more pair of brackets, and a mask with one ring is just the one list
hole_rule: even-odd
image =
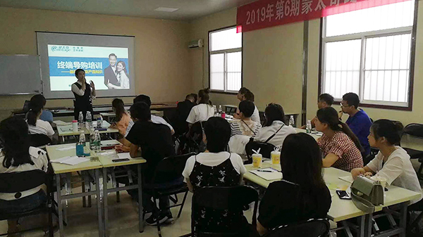
[[[228,27],[236,23],[236,9],[230,9],[191,22],[190,39],[204,39],[208,43],[209,30]],[[243,34],[243,85],[255,93],[259,110],[270,102],[283,105],[292,113],[301,112],[302,79],[302,23],[270,27]],[[307,118],[312,119],[317,110],[319,84],[320,20],[309,21],[309,57],[307,83]],[[190,51],[192,83],[195,89],[201,87],[201,51]],[[208,87],[209,62],[207,48],[204,48],[204,86]],[[389,118],[403,124],[423,123],[423,4],[419,6],[417,23],[417,47],[415,58],[415,82],[412,111],[363,108],[372,119]],[[238,104],[233,95],[212,94],[217,103]],[[215,103],[216,103],[215,102]],[[337,110],[338,105],[334,106]],[[346,116],[345,116],[346,119]]]

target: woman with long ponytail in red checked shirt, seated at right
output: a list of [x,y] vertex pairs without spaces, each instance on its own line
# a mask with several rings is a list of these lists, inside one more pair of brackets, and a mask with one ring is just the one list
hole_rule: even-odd
[[317,140],[323,153],[323,167],[335,167],[350,172],[363,167],[363,150],[357,136],[347,124],[338,119],[332,107],[317,110],[316,130],[323,132]]

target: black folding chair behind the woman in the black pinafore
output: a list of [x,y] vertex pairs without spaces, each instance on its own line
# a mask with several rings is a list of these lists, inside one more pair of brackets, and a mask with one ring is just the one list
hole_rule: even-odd
[[[254,212],[252,214],[252,225],[257,226],[257,205],[259,201],[259,193],[251,186],[231,186],[218,187],[210,186],[198,188],[192,197],[192,214],[191,214],[191,234],[195,236],[243,236],[246,226],[234,226],[237,231],[221,231],[214,230],[211,232],[204,232],[195,226],[196,208],[202,207],[211,208],[214,210],[231,210],[233,212],[243,213],[243,207],[250,203],[255,203]],[[245,217],[243,217],[245,218]],[[242,220],[240,220],[242,223]]]

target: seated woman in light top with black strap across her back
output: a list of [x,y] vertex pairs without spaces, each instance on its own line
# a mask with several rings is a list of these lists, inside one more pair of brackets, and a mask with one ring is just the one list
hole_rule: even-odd
[[[266,121],[255,136],[255,141],[267,141],[274,146],[281,147],[286,136],[297,133],[292,126],[287,126],[285,121],[285,113],[281,105],[271,103],[264,110]],[[273,136],[269,141],[268,139]]]

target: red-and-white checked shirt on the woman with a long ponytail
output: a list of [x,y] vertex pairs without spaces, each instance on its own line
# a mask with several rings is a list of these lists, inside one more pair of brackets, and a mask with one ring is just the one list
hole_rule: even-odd
[[317,143],[323,158],[326,158],[329,153],[338,155],[339,159],[333,163],[332,167],[343,169],[347,172],[351,172],[351,169],[363,167],[363,158],[360,150],[358,150],[354,141],[347,134],[335,132],[332,139],[323,135],[317,140]]

